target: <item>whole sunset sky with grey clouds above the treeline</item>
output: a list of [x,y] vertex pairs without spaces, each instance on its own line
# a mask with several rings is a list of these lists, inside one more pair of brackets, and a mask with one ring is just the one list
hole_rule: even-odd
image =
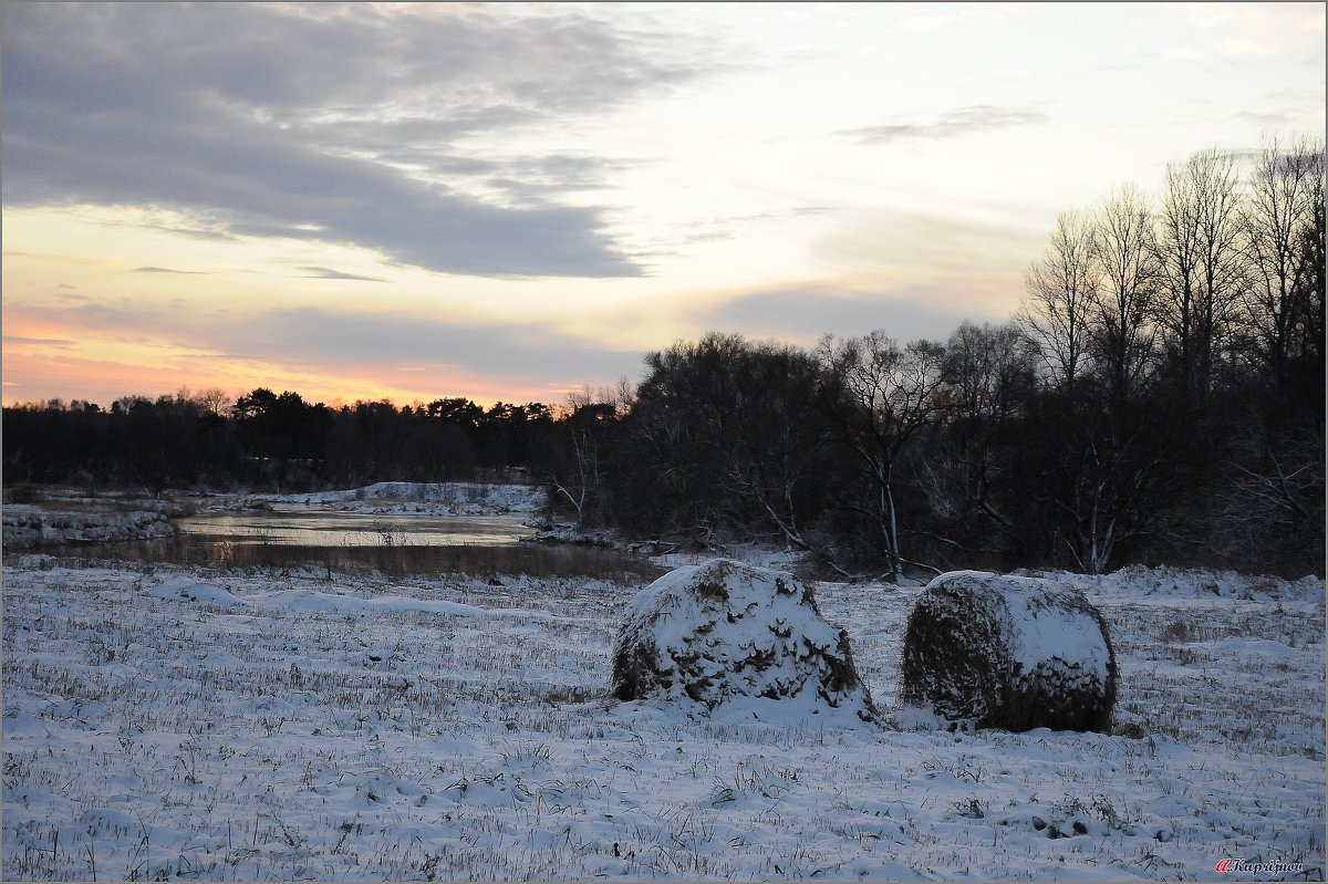
[[3,7],[5,405],[560,404],[1005,321],[1058,212],[1324,131],[1324,5]]

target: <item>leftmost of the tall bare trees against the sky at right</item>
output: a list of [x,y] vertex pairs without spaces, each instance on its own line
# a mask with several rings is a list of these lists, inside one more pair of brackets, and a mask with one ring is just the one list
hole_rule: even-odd
[[1088,323],[1101,283],[1093,236],[1084,214],[1056,218],[1046,252],[1024,275],[1028,297],[1015,317],[1038,345],[1053,382],[1070,394],[1086,368]]

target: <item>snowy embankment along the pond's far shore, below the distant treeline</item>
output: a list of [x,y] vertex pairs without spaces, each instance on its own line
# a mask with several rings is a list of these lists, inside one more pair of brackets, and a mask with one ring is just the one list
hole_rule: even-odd
[[377,482],[347,491],[309,494],[251,494],[234,507],[255,504],[301,504],[317,510],[367,512],[372,515],[494,515],[499,512],[540,512],[544,490],[535,484],[490,484],[485,482]]

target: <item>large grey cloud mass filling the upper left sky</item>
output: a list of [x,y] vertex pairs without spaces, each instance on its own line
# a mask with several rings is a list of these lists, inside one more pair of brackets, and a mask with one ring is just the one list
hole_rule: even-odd
[[635,276],[603,208],[552,202],[608,161],[510,158],[499,135],[699,73],[660,42],[570,9],[15,4],[4,199],[162,207],[449,273]]

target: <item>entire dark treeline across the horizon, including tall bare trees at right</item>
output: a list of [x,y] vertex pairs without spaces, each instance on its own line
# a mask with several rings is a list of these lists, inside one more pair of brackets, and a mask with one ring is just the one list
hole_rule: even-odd
[[5,483],[522,475],[566,519],[845,575],[1324,568],[1324,149],[1171,163],[1057,219],[1009,323],[811,349],[709,333],[637,385],[482,409],[259,389],[5,409]]

